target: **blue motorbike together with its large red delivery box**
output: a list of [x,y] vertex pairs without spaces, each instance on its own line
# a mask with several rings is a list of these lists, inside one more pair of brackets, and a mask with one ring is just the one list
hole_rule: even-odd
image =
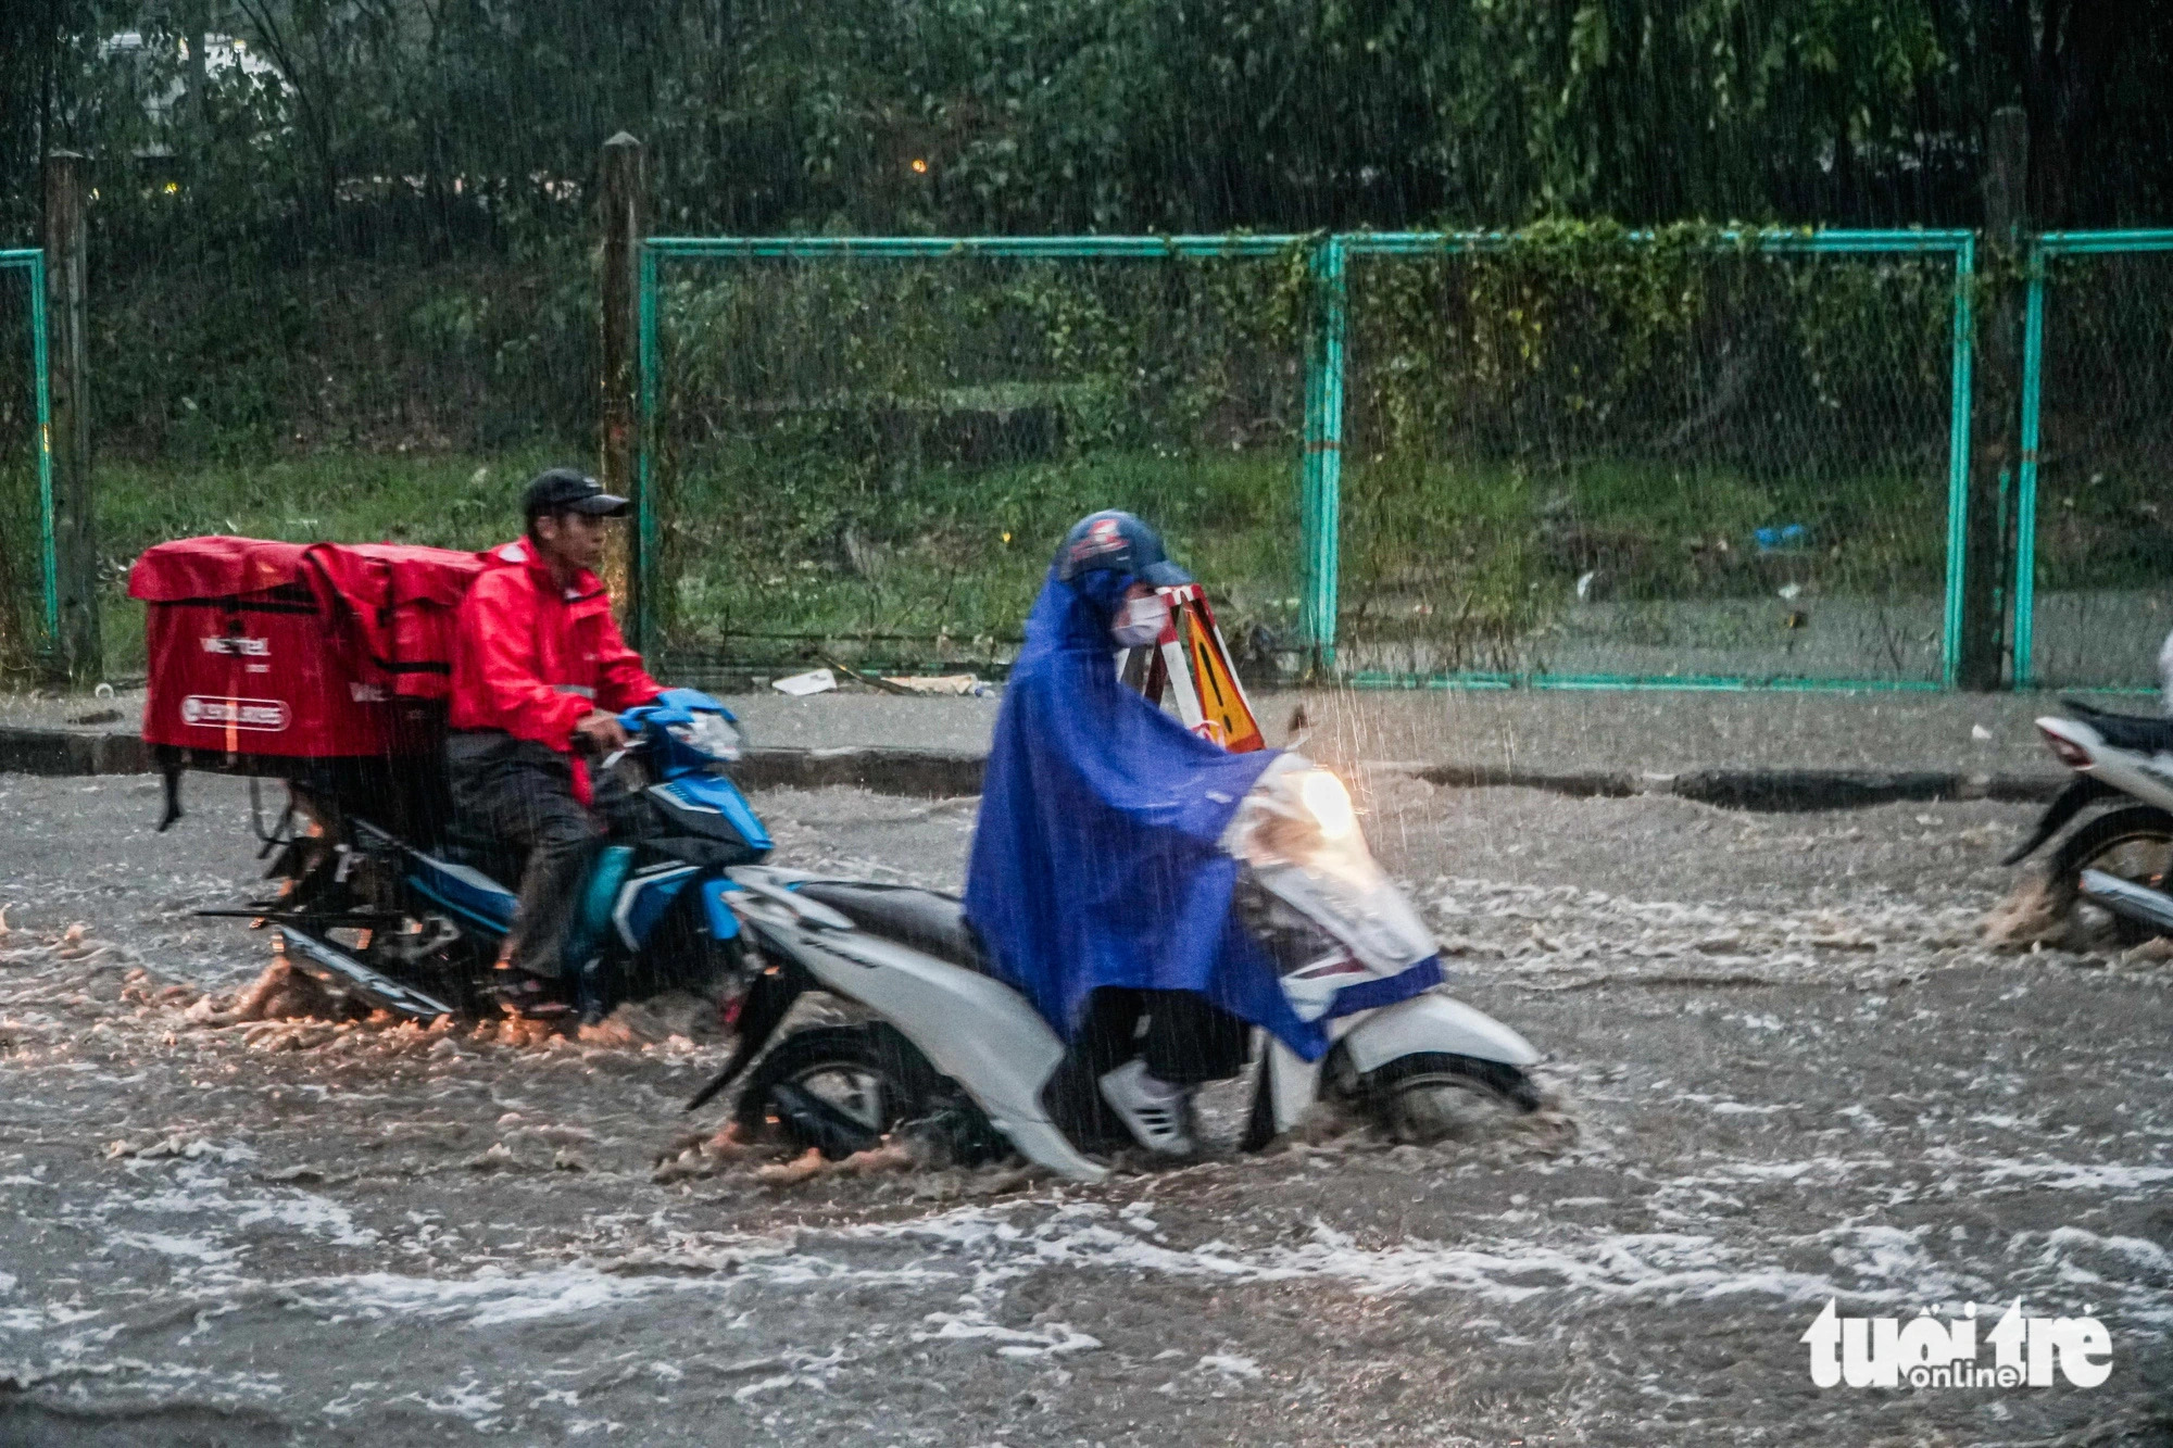
[[[187,770],[287,785],[263,854],[278,894],[206,911],[274,928],[287,959],[341,996],[415,1020],[489,1009],[522,861],[454,833],[445,696],[454,617],[476,554],[404,544],[196,537],[137,559],[150,681],[143,741],[165,774],[169,828]],[[674,689],[621,715],[635,744],[600,767],[654,828],[611,846],[585,889],[567,959],[587,1013],[671,987],[715,989],[737,961],[717,898],[769,852],[724,776],[739,737],[717,700]]]

